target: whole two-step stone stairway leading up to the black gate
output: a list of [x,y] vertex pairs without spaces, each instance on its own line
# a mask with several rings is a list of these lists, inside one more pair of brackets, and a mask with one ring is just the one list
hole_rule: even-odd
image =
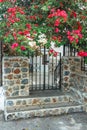
[[[37,96],[38,95],[38,96]],[[5,120],[16,120],[21,118],[55,116],[71,112],[85,111],[85,106],[73,100],[66,93],[51,95],[32,94],[29,97],[16,97],[5,101]]]

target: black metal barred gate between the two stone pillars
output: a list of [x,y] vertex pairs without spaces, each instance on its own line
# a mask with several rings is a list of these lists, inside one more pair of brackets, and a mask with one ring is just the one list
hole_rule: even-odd
[[39,48],[29,56],[30,90],[61,89],[61,53],[54,57],[48,51]]

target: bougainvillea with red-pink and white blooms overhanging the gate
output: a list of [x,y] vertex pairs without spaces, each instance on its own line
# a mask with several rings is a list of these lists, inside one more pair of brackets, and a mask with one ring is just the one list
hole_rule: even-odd
[[0,28],[7,55],[28,55],[52,42],[87,52],[87,1],[0,0]]

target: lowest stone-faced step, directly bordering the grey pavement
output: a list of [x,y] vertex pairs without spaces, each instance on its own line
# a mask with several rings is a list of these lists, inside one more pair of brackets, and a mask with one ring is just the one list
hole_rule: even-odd
[[44,117],[44,116],[55,116],[73,112],[82,112],[85,111],[84,105],[72,105],[70,106],[55,106],[55,107],[46,107],[34,110],[27,110],[27,111],[15,111],[15,112],[7,112],[5,111],[5,120],[16,120],[16,119],[25,119],[31,117]]

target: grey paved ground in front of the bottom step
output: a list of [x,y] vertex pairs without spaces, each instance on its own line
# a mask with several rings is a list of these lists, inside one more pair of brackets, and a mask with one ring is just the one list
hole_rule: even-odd
[[0,114],[0,130],[87,130],[87,113],[4,121]]

